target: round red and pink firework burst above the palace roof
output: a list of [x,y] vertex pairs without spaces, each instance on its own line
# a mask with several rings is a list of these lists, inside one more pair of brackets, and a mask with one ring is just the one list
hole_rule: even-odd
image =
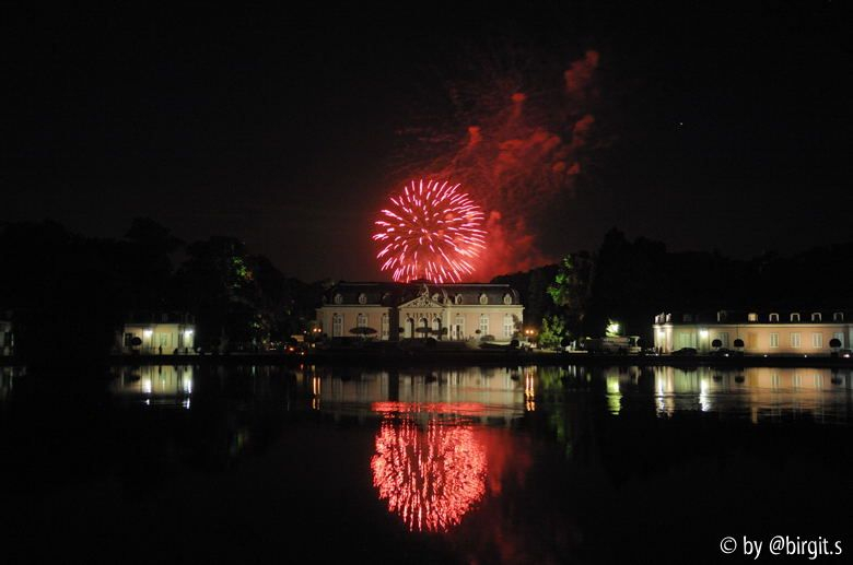
[[428,279],[459,282],[474,272],[474,260],[486,249],[483,213],[459,185],[412,180],[394,207],[384,209],[373,235],[382,250],[383,271],[397,282]]

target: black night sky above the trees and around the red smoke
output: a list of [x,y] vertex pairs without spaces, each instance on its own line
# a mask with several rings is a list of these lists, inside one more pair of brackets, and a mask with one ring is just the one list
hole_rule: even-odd
[[736,257],[850,240],[843,2],[599,4],[3,8],[0,221],[150,216],[305,280],[387,279],[370,233],[418,151],[400,132],[457,134],[447,85],[482,61],[595,50],[600,146],[537,226],[545,256],[614,226]]

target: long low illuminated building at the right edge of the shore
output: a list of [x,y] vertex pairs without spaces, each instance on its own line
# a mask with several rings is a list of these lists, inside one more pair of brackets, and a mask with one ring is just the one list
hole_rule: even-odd
[[[714,314],[664,313],[655,316],[655,348],[671,353],[720,348],[755,355],[829,355],[849,349],[853,326],[846,310],[720,310]],[[833,340],[838,340],[837,346]]]

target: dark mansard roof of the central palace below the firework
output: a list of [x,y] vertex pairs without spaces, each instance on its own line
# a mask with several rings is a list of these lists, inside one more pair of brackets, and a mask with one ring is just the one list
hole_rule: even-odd
[[[518,292],[509,284],[436,284],[428,281],[340,282],[324,293],[323,304],[399,306],[424,294],[448,305],[481,305],[480,297],[483,295],[489,305],[505,305],[507,295],[511,305],[522,304]],[[363,299],[360,301],[360,297]]]

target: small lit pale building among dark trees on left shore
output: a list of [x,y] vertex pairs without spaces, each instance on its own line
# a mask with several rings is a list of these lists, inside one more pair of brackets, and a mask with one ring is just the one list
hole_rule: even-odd
[[196,323],[187,314],[157,313],[131,317],[116,337],[118,351],[142,355],[195,351]]

